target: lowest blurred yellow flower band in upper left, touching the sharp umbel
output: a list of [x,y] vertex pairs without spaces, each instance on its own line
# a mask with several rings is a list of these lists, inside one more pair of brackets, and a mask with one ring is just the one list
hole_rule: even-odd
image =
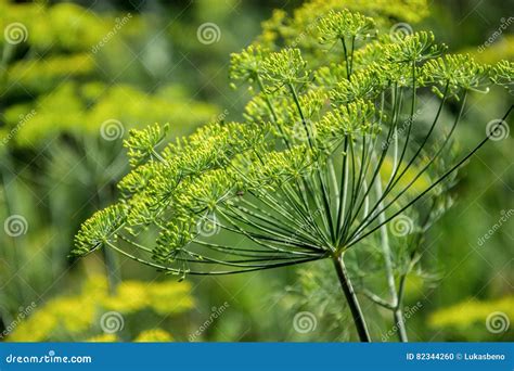
[[[126,132],[156,121],[170,123],[174,133],[184,135],[218,113],[214,105],[187,102],[184,94],[172,86],[146,94],[129,85],[107,87],[98,81],[68,81],[35,102],[8,107],[8,127],[0,131],[0,139],[14,127],[15,143],[20,146],[36,146],[61,132],[100,136],[102,125],[108,120],[118,121]],[[34,114],[25,117],[27,112]]]

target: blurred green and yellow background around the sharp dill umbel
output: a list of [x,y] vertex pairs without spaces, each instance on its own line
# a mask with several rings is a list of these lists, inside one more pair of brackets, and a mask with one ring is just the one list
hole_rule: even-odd
[[[105,252],[68,258],[80,223],[116,196],[128,130],[169,123],[179,137],[209,120],[241,119],[245,94],[229,87],[230,53],[258,37],[274,9],[291,14],[299,7],[0,0],[0,338],[355,338],[323,261],[179,283]],[[451,51],[486,63],[514,59],[507,2],[428,1],[427,8],[414,30],[433,29]],[[512,98],[474,95],[459,145],[480,140]],[[424,270],[408,280],[411,340],[514,340],[512,149],[507,137],[473,156],[460,172],[455,205],[428,231]],[[374,337],[395,341],[384,336],[394,329],[387,314],[369,303],[364,309]],[[297,331],[295,318],[305,312],[316,325]],[[498,320],[501,331],[491,331]]]

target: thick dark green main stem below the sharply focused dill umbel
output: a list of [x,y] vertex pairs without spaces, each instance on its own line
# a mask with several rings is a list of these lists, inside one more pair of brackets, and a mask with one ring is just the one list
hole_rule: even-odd
[[357,299],[357,295],[354,286],[351,285],[350,278],[348,277],[345,263],[343,261],[343,255],[337,254],[334,256],[333,260],[335,270],[337,272],[337,278],[340,282],[340,287],[343,289],[343,293],[345,294],[348,306],[350,307],[351,317],[354,318],[354,323],[357,328],[359,338],[361,342],[371,342],[364,316],[362,315],[359,300]]

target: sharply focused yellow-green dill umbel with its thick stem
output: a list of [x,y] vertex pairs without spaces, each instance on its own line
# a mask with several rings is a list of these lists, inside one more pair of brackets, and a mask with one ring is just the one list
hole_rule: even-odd
[[[370,341],[347,252],[451,183],[489,139],[452,150],[468,94],[512,84],[513,64],[446,54],[432,33],[382,35],[348,10],[317,18],[316,34],[323,57],[313,61],[259,44],[232,55],[234,85],[253,94],[242,123],[171,143],[166,126],[132,130],[121,197],[82,225],[74,253],[112,248],[180,278],[331,259],[359,338]],[[429,120],[417,117],[422,95],[437,102]],[[458,113],[447,123],[449,105]]]

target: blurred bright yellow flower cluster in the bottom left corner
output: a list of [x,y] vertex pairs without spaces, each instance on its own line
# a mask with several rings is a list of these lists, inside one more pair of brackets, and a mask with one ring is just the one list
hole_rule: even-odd
[[[72,337],[75,341],[112,342],[115,334],[92,334],[100,317],[106,311],[120,315],[137,314],[151,309],[160,316],[187,311],[194,305],[187,282],[125,281],[114,295],[108,294],[103,277],[92,277],[78,295],[54,298],[38,308],[26,321],[9,335],[11,342],[42,342]],[[143,331],[138,341],[169,341],[171,335],[164,330]]]

